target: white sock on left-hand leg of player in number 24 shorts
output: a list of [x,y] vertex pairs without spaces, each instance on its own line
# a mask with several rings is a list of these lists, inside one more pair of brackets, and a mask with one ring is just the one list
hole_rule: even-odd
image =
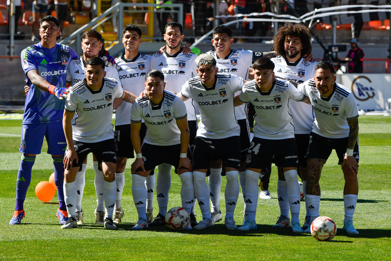
[[[246,208],[248,219],[255,221],[256,205],[258,203],[258,180],[260,173],[246,171]],[[239,176],[240,177],[240,176]]]

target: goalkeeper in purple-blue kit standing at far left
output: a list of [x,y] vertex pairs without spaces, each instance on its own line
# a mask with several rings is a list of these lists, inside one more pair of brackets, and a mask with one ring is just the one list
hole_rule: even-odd
[[[57,217],[60,224],[67,221],[64,202],[63,180],[64,149],[66,146],[61,121],[63,119],[65,76],[68,62],[77,58],[74,50],[56,43],[59,36],[59,22],[54,16],[45,16],[39,22],[41,41],[27,47],[21,53],[22,67],[30,92],[26,95],[23,114],[22,140],[19,151],[22,153],[16,181],[16,206],[10,225],[20,224],[25,216],[23,203],[31,182],[31,169],[36,155],[41,153],[43,137],[48,143],[48,154],[52,155],[55,184],[59,200]],[[51,95],[55,94],[55,95]]]

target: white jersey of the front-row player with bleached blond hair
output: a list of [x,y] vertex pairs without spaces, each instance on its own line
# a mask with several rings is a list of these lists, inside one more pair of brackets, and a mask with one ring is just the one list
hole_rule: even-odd
[[243,79],[239,76],[217,74],[215,84],[210,88],[203,85],[198,76],[182,86],[180,95],[194,99],[201,113],[197,137],[223,139],[239,136],[233,97],[242,85]]

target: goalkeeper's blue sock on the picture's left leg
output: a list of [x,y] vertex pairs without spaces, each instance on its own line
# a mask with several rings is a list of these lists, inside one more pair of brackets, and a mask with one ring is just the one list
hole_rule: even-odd
[[22,154],[18,177],[16,179],[16,206],[15,210],[23,210],[27,189],[31,182],[31,169],[35,162],[35,156]]

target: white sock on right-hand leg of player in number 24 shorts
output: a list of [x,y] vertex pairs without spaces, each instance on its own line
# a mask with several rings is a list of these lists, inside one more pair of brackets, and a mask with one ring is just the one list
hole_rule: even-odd
[[287,183],[288,202],[291,209],[291,222],[299,222],[300,213],[300,186],[297,180],[297,170],[291,169],[284,172]]

